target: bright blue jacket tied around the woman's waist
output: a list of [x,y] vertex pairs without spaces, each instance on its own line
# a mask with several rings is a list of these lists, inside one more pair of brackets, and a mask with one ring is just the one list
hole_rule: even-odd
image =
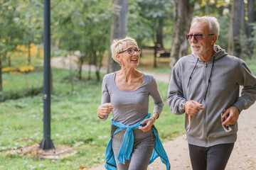
[[[146,118],[144,118],[144,120],[147,119],[147,118],[150,118],[150,115],[151,114],[149,113],[146,116]],[[135,125],[129,126],[129,125],[124,125],[122,123],[114,122],[113,120],[111,120],[111,125],[114,125],[114,126],[117,127],[117,130],[114,131],[114,134],[116,134],[120,130],[126,129],[126,132],[124,132],[124,140],[122,142],[122,145],[121,145],[120,150],[119,150],[119,154],[117,156],[118,162],[120,162],[122,164],[125,164],[126,159],[127,160],[131,159],[132,148],[133,148],[133,145],[134,145],[134,134],[133,134],[132,130],[138,129],[139,126],[142,125],[141,124],[142,121],[140,121],[139,123],[137,123]],[[161,140],[159,139],[159,135],[157,134],[156,129],[153,126],[152,126],[152,129],[153,129],[154,135],[156,137],[156,142],[154,144],[154,150],[153,150],[153,153],[151,155],[151,159],[149,161],[149,164],[154,162],[154,160],[157,157],[160,157],[161,162],[163,162],[166,165],[166,169],[169,170],[169,169],[171,169],[169,159],[166,155],[166,152],[164,150],[163,145],[161,144]],[[110,137],[110,141],[108,142],[107,149],[106,149],[105,168],[107,170],[117,170],[117,164],[114,160],[114,152],[112,150],[112,136]]]

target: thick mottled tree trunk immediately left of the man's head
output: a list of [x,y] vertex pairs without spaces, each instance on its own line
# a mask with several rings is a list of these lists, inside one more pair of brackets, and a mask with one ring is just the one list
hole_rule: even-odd
[[179,58],[188,55],[186,34],[190,29],[193,6],[190,0],[174,0],[174,38],[171,46],[170,70],[174,68]]

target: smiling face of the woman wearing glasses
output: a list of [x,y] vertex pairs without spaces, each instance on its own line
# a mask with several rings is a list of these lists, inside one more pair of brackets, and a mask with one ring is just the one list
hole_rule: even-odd
[[128,45],[125,52],[119,54],[121,67],[138,67],[139,66],[139,49],[136,45]]

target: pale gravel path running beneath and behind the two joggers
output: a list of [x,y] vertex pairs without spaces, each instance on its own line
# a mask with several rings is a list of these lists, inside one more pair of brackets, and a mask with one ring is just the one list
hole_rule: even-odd
[[[70,68],[68,65],[69,61],[70,60],[63,60],[62,58],[54,58],[51,61],[51,65],[52,67],[58,68]],[[75,66],[73,66],[73,68],[74,67]],[[85,65],[83,69],[87,69],[87,66]],[[168,74],[151,74],[156,78],[156,81],[169,82]],[[238,128],[238,140],[235,142],[235,147],[230,156],[226,170],[256,170],[256,103],[249,109],[242,111],[240,118],[238,119]],[[181,135],[174,140],[166,141],[163,145],[171,163],[171,170],[192,169],[188,155],[186,135]],[[100,164],[87,170],[104,169],[104,165]],[[164,169],[166,169],[166,167],[161,163],[159,158],[148,167],[148,170]]]

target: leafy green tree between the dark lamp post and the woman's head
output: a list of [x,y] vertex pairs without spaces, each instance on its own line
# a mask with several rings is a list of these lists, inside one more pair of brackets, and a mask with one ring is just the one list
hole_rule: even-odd
[[[100,80],[102,57],[109,47],[111,4],[108,1],[70,1],[63,0],[55,6],[53,16],[53,40],[62,50],[68,49],[78,57],[78,79],[82,79],[82,64],[87,62],[96,67]],[[90,77],[90,74],[89,74]]]

